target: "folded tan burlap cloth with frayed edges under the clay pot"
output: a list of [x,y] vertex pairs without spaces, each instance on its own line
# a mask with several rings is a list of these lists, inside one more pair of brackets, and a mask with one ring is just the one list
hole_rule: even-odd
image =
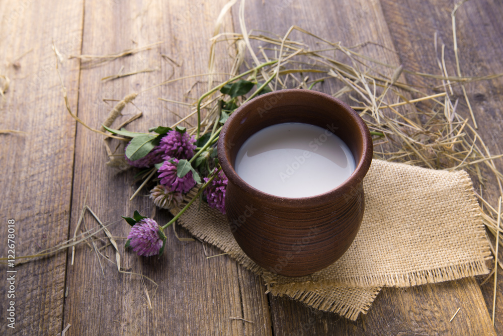
[[[356,320],[383,286],[407,287],[487,274],[491,258],[471,180],[374,159],[364,179],[365,214],[344,256],[312,275],[272,274],[237,245],[225,215],[194,202],[179,223],[259,274],[268,292]],[[179,209],[173,209],[178,213]]]

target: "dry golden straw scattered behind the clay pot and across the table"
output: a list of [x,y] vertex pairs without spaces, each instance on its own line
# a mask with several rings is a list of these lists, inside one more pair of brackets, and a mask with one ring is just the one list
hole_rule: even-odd
[[[403,68],[401,65],[387,64],[357,51],[369,43],[345,47],[341,42],[328,41],[297,26],[292,26],[284,36],[262,31],[248,31],[244,23],[244,1],[242,1],[238,17],[240,33],[220,32],[221,22],[224,14],[228,12],[228,7],[224,8],[222,15],[219,16],[214,36],[211,39],[208,73],[168,79],[138,94],[144,95],[153,88],[169,85],[183,79],[198,78],[201,80],[201,78],[207,78],[210,89],[197,100],[197,103],[188,104],[186,99],[182,101],[182,99],[177,100],[173,97],[158,98],[166,102],[178,103],[181,109],[190,109],[184,113],[186,116],[173,126],[185,124],[188,126],[189,132],[200,135],[208,131],[212,131],[212,133],[218,131],[218,122],[221,116],[219,101],[224,98],[219,89],[228,82],[242,78],[256,82],[257,87],[269,87],[271,90],[312,89],[313,87],[316,89],[316,85],[319,85],[320,82],[326,81],[327,84],[330,82],[331,88],[337,88],[331,92],[331,95],[350,102],[353,108],[359,111],[365,119],[374,134],[375,157],[431,169],[463,169],[478,181],[481,188],[486,186],[487,181],[490,181],[492,185],[497,186],[499,194],[503,196],[503,174],[498,168],[501,167],[502,155],[491,154],[478,133],[477,122],[466,91],[466,85],[470,82],[492,80],[503,74],[475,77],[461,75],[459,53],[462,51],[459,50],[457,44],[456,12],[463,3],[464,1],[457,4],[451,14],[457,76],[448,75],[444,57],[446,46],[442,45],[439,54],[436,36],[434,48],[437,52],[440,74],[415,72]],[[302,41],[311,41],[311,43],[300,42],[301,39],[294,39],[291,37],[293,35],[300,35]],[[145,51],[159,43],[112,55],[71,57],[81,59],[85,62],[83,66],[89,67],[103,61]],[[218,43],[226,44],[228,50],[233,53],[234,61],[229,72],[215,71],[215,50]],[[379,46],[374,44],[374,47]],[[172,62],[175,63],[173,60]],[[178,63],[175,64],[178,66]],[[403,79],[403,73],[408,75],[408,80],[411,83]],[[120,78],[120,73],[116,77]],[[434,91],[413,85],[414,78],[418,77],[438,81],[433,86]],[[218,82],[218,85],[213,85],[214,81]],[[62,81],[61,86],[68,113],[87,128],[107,135],[101,130],[87,126],[72,113]],[[456,87],[461,87],[463,92],[461,101],[452,98]],[[131,102],[134,97],[127,96],[116,105],[111,111],[114,120],[119,116],[120,110],[124,108],[126,103]],[[250,97],[247,100],[249,99]],[[241,98],[238,103],[245,101],[244,98]],[[460,111],[462,106],[468,108],[469,117],[465,117],[466,111]],[[190,121],[195,116],[197,116],[197,124],[192,125]],[[113,123],[114,120],[109,120],[109,122]],[[113,135],[108,136],[121,138]],[[108,152],[111,160],[117,155],[111,151]],[[498,245],[503,246],[503,239],[499,238],[503,232],[503,229],[498,225],[501,217],[500,211],[495,209],[497,207],[491,206],[491,202],[485,199],[482,193],[478,197],[482,219],[487,231],[496,237]],[[87,210],[90,209],[87,208]],[[105,226],[101,226],[99,231],[104,228]],[[95,232],[89,230],[88,234],[95,234]],[[65,242],[51,251],[54,253],[54,251],[73,246],[88,238],[89,236],[86,238],[75,236],[76,240]],[[110,235],[108,238],[110,239],[112,236]],[[117,251],[115,245],[114,248]],[[494,247],[491,246],[491,248],[493,254],[496,255]],[[46,255],[51,251],[46,251],[41,255]],[[497,265],[501,267],[497,258],[496,261],[495,267]],[[120,270],[119,259],[117,267]]]

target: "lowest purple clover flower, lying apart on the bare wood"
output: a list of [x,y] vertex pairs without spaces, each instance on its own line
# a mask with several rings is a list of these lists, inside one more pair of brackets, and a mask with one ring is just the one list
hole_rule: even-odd
[[[143,218],[131,228],[127,238],[129,246],[139,256],[155,256],[162,247],[163,237],[159,234],[160,227],[157,222],[150,218]],[[165,239],[165,237],[164,237]]]

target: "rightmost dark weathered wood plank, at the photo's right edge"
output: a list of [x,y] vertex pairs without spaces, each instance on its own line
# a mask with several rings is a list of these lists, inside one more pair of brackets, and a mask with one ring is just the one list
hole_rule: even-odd
[[[416,3],[382,0],[381,3],[400,60],[406,68],[441,74],[433,45],[434,34],[437,33],[439,57],[442,44],[445,44],[447,72],[449,75],[457,74],[451,27],[454,2],[434,0]],[[469,1],[459,8],[456,13],[456,31],[462,75],[483,76],[503,72],[500,57],[503,52],[501,17],[503,17],[503,8],[499,3],[490,0]],[[431,84],[431,81],[425,78],[408,77],[409,81],[414,80],[419,85]],[[501,142],[503,110],[500,100],[503,94],[502,88],[503,79],[501,78],[466,85],[479,134],[492,154],[503,151]],[[453,87],[453,90],[452,99],[459,99],[458,113],[465,118],[470,118],[462,90],[459,86]],[[499,171],[503,170],[501,159],[495,160],[495,164]],[[487,174],[487,176],[490,175]],[[476,179],[474,182],[478,185]],[[495,181],[489,180],[483,189],[484,197],[497,207],[499,191]],[[499,290],[501,281],[503,277],[499,272]],[[481,289],[487,308],[492,314],[493,280],[486,282]],[[503,297],[500,291],[497,293],[495,316],[495,328],[501,334],[503,333]]]

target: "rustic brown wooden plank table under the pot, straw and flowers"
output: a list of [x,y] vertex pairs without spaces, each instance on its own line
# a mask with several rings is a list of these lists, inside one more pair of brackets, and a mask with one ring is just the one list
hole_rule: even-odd
[[[98,127],[110,110],[103,98],[122,99],[172,75],[207,72],[208,39],[225,4],[226,0],[0,1],[0,75],[11,80],[5,99],[0,98],[0,129],[26,132],[0,134],[2,256],[7,254],[8,219],[15,220],[16,254],[21,256],[71,238],[85,204],[104,222],[112,223],[109,228],[115,236],[123,237],[128,227],[119,220],[121,215],[135,209],[151,211],[146,197],[128,201],[137,187],[131,184],[134,172],[117,173],[106,166],[102,137],[77,124],[66,112],[53,43],[63,59],[59,68],[71,109]],[[224,18],[222,31],[239,31],[237,6]],[[284,35],[295,24],[346,46],[377,42],[385,48],[369,45],[365,52],[391,64],[403,64],[406,69],[440,74],[433,42],[437,33],[439,43],[446,44],[447,70],[455,75],[453,7],[454,2],[445,0],[248,0],[246,25]],[[501,18],[503,6],[497,1],[472,0],[459,9],[457,34],[463,75],[503,72]],[[89,69],[78,59],[67,58],[112,54],[157,41],[163,43]],[[221,70],[230,65],[229,57],[216,62]],[[118,73],[121,66],[124,72],[156,71],[101,81]],[[405,79],[419,86],[430,84],[407,74]],[[200,80],[190,97],[207,89],[205,79]],[[170,125],[178,119],[175,113],[187,114],[188,109],[157,98],[184,97],[194,81],[187,79],[138,96],[134,103],[143,117],[133,124],[135,130]],[[503,80],[480,81],[467,89],[484,141],[492,153],[503,152]],[[329,87],[319,90],[330,93]],[[462,97],[460,92],[456,95]],[[137,113],[136,108],[128,105],[123,118]],[[463,99],[459,109],[468,115]],[[498,164],[501,171],[501,160]],[[496,204],[496,188],[489,185],[485,193]],[[156,216],[159,222],[169,219],[165,212]],[[90,216],[85,218],[89,227],[96,226]],[[183,229],[178,231],[189,236]],[[200,241],[179,241],[169,232],[160,260],[123,254],[126,271],[141,272],[158,284],[155,289],[145,281],[152,309],[138,276],[118,273],[112,263],[103,257],[99,260],[93,249],[80,244],[73,265],[70,253],[63,251],[14,268],[15,329],[5,322],[10,300],[7,275],[12,273],[6,273],[10,269],[2,266],[2,332],[54,335],[71,324],[66,335],[503,334],[501,276],[495,327],[490,317],[492,281],[479,286],[475,279],[385,288],[368,314],[352,322],[288,298],[267,295],[261,279],[229,258],[206,259],[205,254],[219,253],[216,248]],[[121,251],[123,242],[119,240]],[[111,246],[102,253],[114,259]]]

